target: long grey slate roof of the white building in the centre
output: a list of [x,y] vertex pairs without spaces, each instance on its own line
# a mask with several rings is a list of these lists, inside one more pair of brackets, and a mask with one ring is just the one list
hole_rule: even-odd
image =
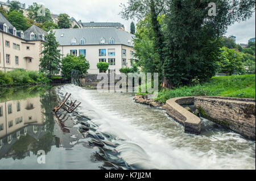
[[[81,28],[81,29],[59,29],[53,30],[56,40],[60,45],[71,45],[72,39],[77,40],[77,45],[80,44],[82,38],[85,39],[85,45],[99,45],[103,37],[105,44],[109,44],[110,38],[114,39],[114,44],[123,44],[130,46],[128,41],[133,45],[134,35],[129,32],[118,30],[117,28]],[[61,37],[63,34],[63,37]]]

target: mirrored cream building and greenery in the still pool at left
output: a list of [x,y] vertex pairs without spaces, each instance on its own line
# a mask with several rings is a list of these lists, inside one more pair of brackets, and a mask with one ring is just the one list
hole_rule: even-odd
[[49,94],[43,95],[46,90],[47,87],[1,89],[0,159],[23,159],[31,152],[51,150],[54,123],[49,121],[51,113],[45,107],[51,104],[47,102]]

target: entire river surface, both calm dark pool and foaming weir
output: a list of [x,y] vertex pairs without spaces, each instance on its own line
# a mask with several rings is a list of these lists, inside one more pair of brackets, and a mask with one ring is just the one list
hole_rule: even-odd
[[[65,92],[82,104],[58,119],[51,110]],[[0,131],[0,169],[255,169],[255,141],[205,119],[199,136],[184,133],[165,111],[134,103],[132,94],[64,85],[37,98],[42,123],[27,115],[27,134],[26,125],[18,134]],[[1,104],[8,115],[9,102]],[[0,125],[8,121],[0,117]],[[38,150],[46,150],[46,164],[37,163]]]

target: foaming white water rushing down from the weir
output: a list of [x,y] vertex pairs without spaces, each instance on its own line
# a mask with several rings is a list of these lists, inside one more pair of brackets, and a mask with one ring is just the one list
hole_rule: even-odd
[[[255,141],[203,120],[199,136],[184,128],[166,112],[136,104],[133,95],[61,86],[59,94],[72,94],[82,102],[80,115],[112,134],[115,150],[129,165],[142,169],[255,169]],[[215,127],[214,127],[215,125]]]

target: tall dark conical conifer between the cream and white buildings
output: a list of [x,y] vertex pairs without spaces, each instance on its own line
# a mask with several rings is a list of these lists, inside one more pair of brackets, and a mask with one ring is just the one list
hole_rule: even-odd
[[60,50],[58,50],[59,43],[56,41],[55,34],[51,30],[51,32],[46,35],[46,43],[43,43],[43,57],[40,58],[40,68],[41,71],[48,75],[58,74],[60,71],[60,61],[61,54]]

